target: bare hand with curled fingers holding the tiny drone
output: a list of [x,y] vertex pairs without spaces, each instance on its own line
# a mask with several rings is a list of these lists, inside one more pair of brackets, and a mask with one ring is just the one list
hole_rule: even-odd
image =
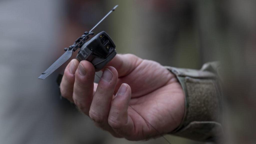
[[181,123],[182,87],[159,63],[116,55],[103,69],[99,84],[93,83],[94,74],[89,61],[71,60],[60,84],[61,95],[113,136],[144,140],[171,132]]

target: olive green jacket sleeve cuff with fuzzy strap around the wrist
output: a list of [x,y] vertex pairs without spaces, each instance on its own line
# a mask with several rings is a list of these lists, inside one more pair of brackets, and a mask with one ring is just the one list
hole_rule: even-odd
[[166,68],[176,75],[185,94],[183,121],[171,134],[197,141],[215,141],[222,133],[218,64],[207,63],[201,70]]

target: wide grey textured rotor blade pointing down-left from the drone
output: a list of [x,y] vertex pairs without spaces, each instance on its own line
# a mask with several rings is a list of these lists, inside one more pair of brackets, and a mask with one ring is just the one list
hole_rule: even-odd
[[51,73],[63,65],[73,54],[72,50],[67,50],[62,56],[60,56],[44,73],[42,73],[38,79],[46,79]]

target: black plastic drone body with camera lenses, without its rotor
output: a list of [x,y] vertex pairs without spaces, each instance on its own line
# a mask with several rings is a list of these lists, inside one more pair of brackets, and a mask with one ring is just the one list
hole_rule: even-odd
[[[107,46],[109,49],[106,48]],[[115,44],[110,36],[103,31],[83,44],[76,59],[78,61],[88,60],[95,67],[95,71],[100,71],[115,55]]]

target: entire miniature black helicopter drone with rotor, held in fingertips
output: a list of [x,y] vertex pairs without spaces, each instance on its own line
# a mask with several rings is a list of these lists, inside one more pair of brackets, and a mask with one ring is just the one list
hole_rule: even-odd
[[89,35],[93,35],[92,30],[97,27],[110,13],[115,11],[116,5],[111,11],[106,14],[89,32],[84,32],[84,34],[79,37],[73,45],[69,48],[65,48],[66,51],[62,56],[60,56],[45,72],[43,72],[38,79],[46,79],[50,74],[52,74],[56,69],[68,61],[73,52],[79,49],[76,59],[79,61],[88,60],[95,67],[96,71],[104,68],[110,60],[112,60],[115,55],[115,44],[106,32],[100,32],[91,38],[88,42]]

